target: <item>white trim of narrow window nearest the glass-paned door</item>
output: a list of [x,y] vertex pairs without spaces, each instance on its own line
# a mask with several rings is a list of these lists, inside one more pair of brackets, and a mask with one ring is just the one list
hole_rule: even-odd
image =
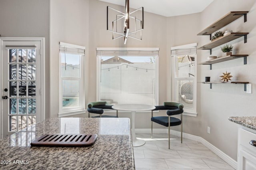
[[[85,51],[85,47],[80,46],[80,45],[74,45],[74,44],[69,44],[69,43],[62,43],[60,42],[60,48],[61,47],[66,47],[66,48],[72,48],[72,49],[82,49]],[[85,53],[84,55],[82,55],[81,53],[73,53],[75,55],[80,55],[80,78],[75,77],[75,78],[68,78],[68,77],[62,77],[61,75],[61,54],[63,52],[60,51],[59,52],[59,113],[58,113],[58,117],[65,117],[65,116],[71,116],[71,115],[78,115],[78,114],[82,114],[85,113],[85,78],[84,78],[84,57],[85,57]],[[67,52],[68,53],[68,52]],[[72,107],[72,108],[62,108],[62,81],[63,80],[78,80],[79,79],[79,107]]]

